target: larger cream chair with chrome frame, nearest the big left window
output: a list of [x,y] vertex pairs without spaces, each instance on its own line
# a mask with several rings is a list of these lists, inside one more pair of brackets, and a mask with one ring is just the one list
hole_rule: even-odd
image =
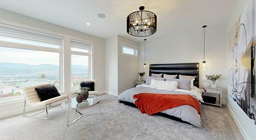
[[[26,107],[26,102],[31,106],[31,107],[40,107],[40,106],[45,106],[45,111],[47,114],[47,117],[35,117],[35,115],[38,115],[40,113],[34,114],[32,116],[26,116],[26,117],[33,117],[33,118],[41,118],[41,119],[48,119],[48,110],[47,110],[47,106],[49,105],[49,107],[51,107],[50,105],[54,102],[63,100],[63,99],[68,99],[68,95],[61,95],[58,97],[54,97],[48,100],[44,100],[44,101],[40,101],[40,98],[37,95],[37,92],[35,90],[35,88],[40,88],[40,87],[44,87],[44,86],[49,86],[51,84],[39,84],[39,85],[33,85],[33,86],[29,86],[29,87],[25,87],[23,88],[23,93],[25,96],[25,101],[24,101],[24,108],[23,108],[23,116],[25,116],[25,107]],[[54,107],[52,107],[54,108]]]

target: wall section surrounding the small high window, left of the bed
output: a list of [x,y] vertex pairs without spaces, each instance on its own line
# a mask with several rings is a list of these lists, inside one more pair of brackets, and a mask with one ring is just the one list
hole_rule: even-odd
[[138,48],[138,42],[118,36],[118,93],[134,87],[138,80],[138,57],[122,55],[122,43]]

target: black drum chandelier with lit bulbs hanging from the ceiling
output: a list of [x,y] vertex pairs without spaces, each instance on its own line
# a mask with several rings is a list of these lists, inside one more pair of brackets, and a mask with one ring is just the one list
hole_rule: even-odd
[[132,36],[147,37],[157,32],[157,15],[144,9],[144,6],[140,6],[140,11],[127,16],[126,31]]

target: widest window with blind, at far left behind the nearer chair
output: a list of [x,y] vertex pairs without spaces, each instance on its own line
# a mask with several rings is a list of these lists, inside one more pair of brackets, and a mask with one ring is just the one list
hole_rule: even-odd
[[0,97],[22,95],[22,88],[51,83],[62,91],[63,38],[0,24]]

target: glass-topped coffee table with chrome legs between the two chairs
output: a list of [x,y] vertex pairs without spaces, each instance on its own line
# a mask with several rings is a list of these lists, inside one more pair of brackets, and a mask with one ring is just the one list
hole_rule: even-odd
[[[76,100],[76,96],[73,97],[72,99],[63,101],[61,103],[61,107],[67,110],[67,126],[69,127],[72,125],[74,122],[76,122],[78,119],[80,119],[83,116],[90,116],[90,115],[99,115],[101,114],[101,109],[99,108],[98,113],[90,113],[90,114],[82,114],[80,111],[89,107],[94,106],[99,102],[99,97],[93,96],[93,97],[88,97],[87,100],[83,100],[81,103],[78,103]],[[69,123],[69,110],[75,110],[77,113],[80,114],[78,118],[73,120],[72,122]]]

